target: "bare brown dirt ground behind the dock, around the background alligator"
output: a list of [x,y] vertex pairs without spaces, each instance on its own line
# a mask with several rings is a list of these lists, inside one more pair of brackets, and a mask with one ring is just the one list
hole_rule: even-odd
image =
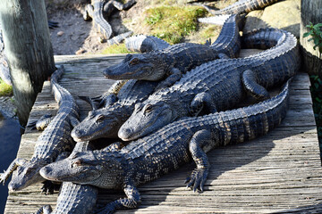
[[[49,29],[55,55],[100,53],[108,47],[106,43],[99,41],[99,33],[92,28],[92,21],[84,21],[82,18],[83,8],[89,3],[88,1],[74,0],[73,4],[71,2],[65,7],[60,6],[57,1],[59,2],[59,0],[47,1],[48,20],[56,21],[59,25],[58,28]],[[123,19],[137,16],[145,6],[146,1],[137,1],[129,11],[116,11],[110,17],[106,17],[112,26],[114,36],[129,31],[123,25]],[[144,33],[142,29],[135,31]]]

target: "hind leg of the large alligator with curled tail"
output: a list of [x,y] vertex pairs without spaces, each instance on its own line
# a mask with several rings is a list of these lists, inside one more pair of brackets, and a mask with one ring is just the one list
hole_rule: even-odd
[[252,70],[245,70],[242,73],[242,84],[247,92],[258,100],[269,98],[267,89],[258,84],[256,73]]

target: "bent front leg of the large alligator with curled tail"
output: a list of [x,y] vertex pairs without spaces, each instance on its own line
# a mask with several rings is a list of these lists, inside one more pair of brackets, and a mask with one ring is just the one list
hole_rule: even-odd
[[195,117],[202,113],[215,113],[216,106],[213,98],[206,92],[196,95],[191,102],[191,116]]

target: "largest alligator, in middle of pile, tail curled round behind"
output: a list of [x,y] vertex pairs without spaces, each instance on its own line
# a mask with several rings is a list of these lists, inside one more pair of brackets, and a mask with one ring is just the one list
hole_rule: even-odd
[[250,93],[268,97],[267,88],[278,86],[300,68],[296,37],[281,29],[258,29],[242,37],[246,48],[273,46],[246,58],[207,62],[186,73],[174,86],[137,103],[119,129],[123,141],[145,136],[186,116],[233,108]]

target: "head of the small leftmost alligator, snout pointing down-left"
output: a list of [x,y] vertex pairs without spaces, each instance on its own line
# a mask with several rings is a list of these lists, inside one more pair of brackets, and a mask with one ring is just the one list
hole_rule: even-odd
[[46,163],[42,163],[39,160],[24,161],[13,172],[13,177],[8,185],[9,190],[21,190],[27,186],[44,181],[45,179],[39,174],[39,169],[45,165]]

